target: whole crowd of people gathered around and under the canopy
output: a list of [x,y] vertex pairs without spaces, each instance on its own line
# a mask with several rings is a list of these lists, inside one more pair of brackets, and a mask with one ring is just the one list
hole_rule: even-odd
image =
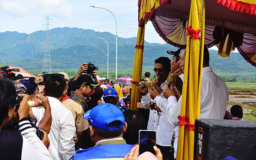
[[[0,78],[3,159],[175,159],[186,47],[167,53],[172,60],[155,60],[154,86],[141,86],[144,109],[139,112],[130,110],[131,86],[99,81],[97,71],[85,73],[87,63],[74,78],[64,72]],[[170,74],[179,68],[169,86]],[[149,78],[146,72],[142,81]],[[241,106],[230,113],[227,101],[227,86],[212,72],[204,47],[200,118],[243,120]],[[146,129],[156,131],[156,155],[138,156],[139,130]]]

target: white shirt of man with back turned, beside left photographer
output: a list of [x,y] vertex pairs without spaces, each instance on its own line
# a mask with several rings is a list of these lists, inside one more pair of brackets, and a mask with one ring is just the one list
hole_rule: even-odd
[[[48,97],[52,109],[52,125],[48,137],[49,152],[54,160],[68,160],[75,153],[73,137],[76,133],[72,112],[54,97]],[[37,124],[44,116],[44,108],[32,108]]]

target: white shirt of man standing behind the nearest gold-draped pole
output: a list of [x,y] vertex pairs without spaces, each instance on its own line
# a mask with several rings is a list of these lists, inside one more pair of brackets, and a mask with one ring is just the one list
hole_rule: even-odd
[[[175,96],[168,98],[167,118],[174,126],[178,126],[178,116],[180,115],[181,99],[177,102]],[[225,82],[219,78],[210,66],[204,67],[202,71],[201,93],[200,93],[200,115],[199,118],[222,120],[225,115],[229,96]],[[178,127],[176,127],[178,129]],[[175,129],[176,129],[175,128]],[[175,157],[177,150],[178,134],[175,131]]]

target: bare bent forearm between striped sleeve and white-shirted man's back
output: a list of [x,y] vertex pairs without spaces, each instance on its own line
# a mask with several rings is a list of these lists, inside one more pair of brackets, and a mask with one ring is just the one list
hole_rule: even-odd
[[41,121],[38,123],[38,128],[43,128],[45,131],[49,134],[51,125],[52,125],[52,113],[51,113],[51,107],[48,100],[48,97],[45,97],[44,95],[38,94],[37,95],[39,99],[42,100],[42,105],[45,109],[44,116],[41,119]]

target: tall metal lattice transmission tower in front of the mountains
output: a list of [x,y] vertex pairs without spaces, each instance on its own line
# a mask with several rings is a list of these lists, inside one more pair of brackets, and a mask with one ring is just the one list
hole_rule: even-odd
[[50,19],[50,16],[45,16],[43,19],[43,22],[45,21],[45,24],[43,24],[43,27],[45,26],[45,40],[44,40],[44,60],[42,65],[42,71],[52,73],[52,62],[51,62],[51,44],[50,44],[50,34],[49,34],[49,26],[52,27],[52,24],[49,23],[49,21],[52,22],[52,19]]

